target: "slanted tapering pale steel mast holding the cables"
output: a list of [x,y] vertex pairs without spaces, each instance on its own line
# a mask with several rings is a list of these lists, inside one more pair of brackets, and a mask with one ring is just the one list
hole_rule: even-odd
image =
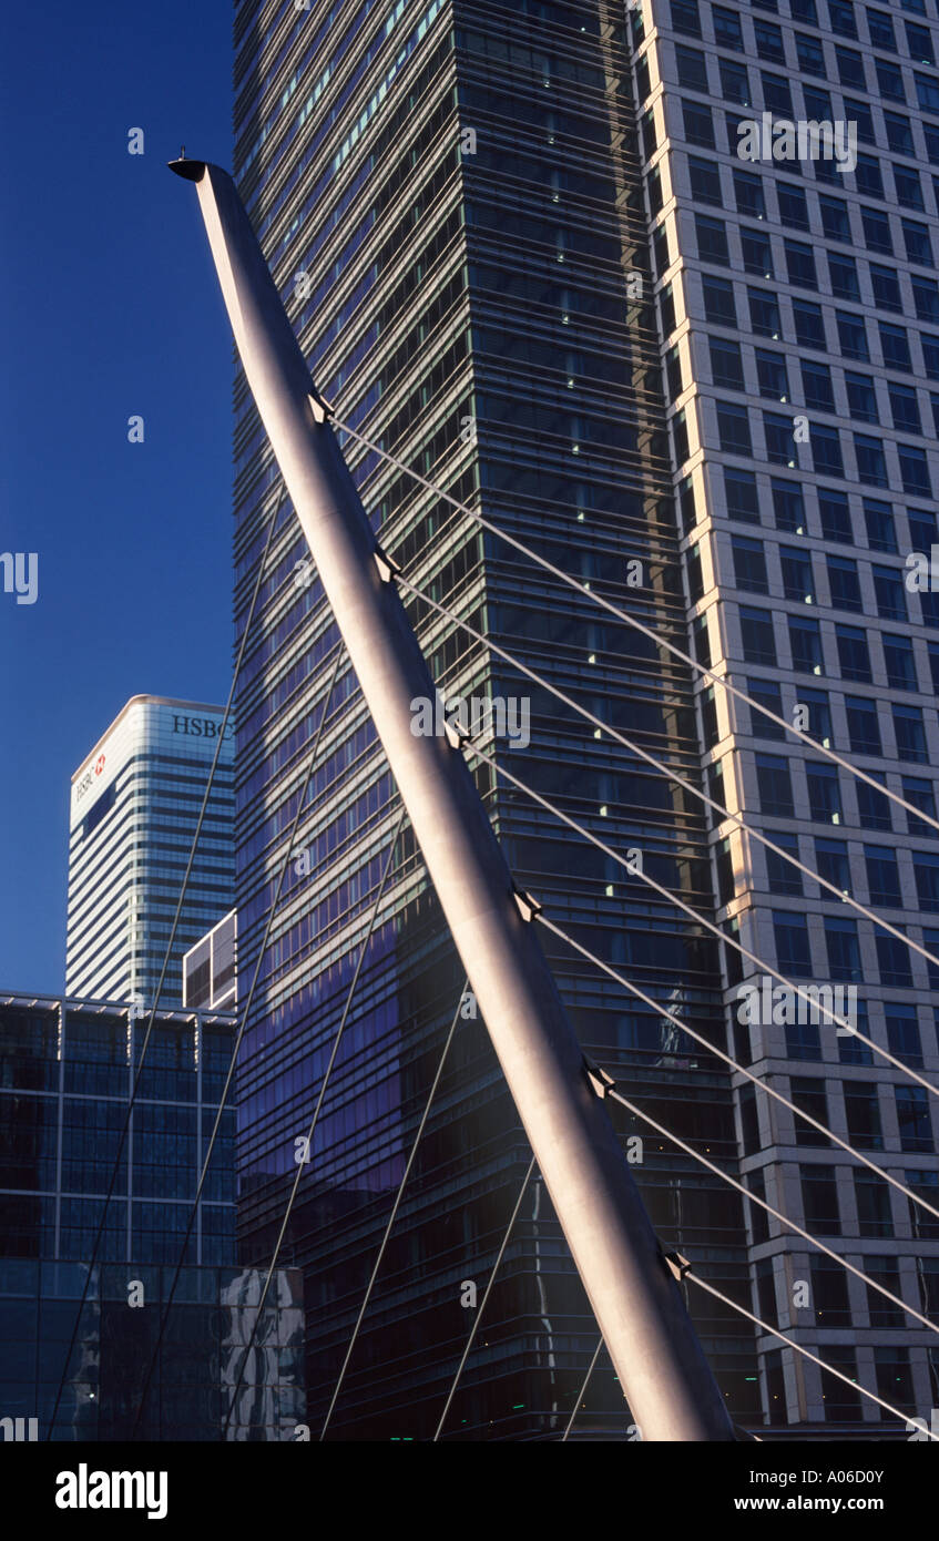
[[641,1436],[734,1439],[463,754],[410,732],[435,686],[227,171],[196,183],[241,361],[427,871]]

